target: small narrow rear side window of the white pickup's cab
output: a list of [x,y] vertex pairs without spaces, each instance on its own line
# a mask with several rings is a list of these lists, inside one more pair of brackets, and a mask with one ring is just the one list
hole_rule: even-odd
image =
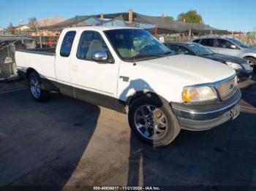
[[75,31],[68,31],[67,34],[65,34],[61,44],[61,51],[60,51],[60,55],[62,57],[69,57],[72,44],[75,39],[75,33],[76,33]]

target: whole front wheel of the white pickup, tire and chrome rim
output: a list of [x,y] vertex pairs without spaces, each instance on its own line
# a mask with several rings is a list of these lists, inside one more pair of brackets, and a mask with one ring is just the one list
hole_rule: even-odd
[[132,102],[128,120],[135,135],[154,147],[170,144],[181,130],[168,102],[152,94]]

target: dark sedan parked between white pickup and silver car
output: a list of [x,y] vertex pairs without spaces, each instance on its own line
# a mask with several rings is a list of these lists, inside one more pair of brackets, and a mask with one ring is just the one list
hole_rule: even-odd
[[225,63],[236,70],[238,82],[252,77],[252,67],[248,61],[243,58],[234,57],[232,55],[217,54],[211,51],[208,47],[204,47],[203,45],[195,42],[165,42],[165,46],[178,54],[197,55]]

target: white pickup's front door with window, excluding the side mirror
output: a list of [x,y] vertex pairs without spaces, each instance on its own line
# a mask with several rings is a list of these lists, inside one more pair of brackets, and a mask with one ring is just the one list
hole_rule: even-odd
[[[70,77],[76,98],[101,104],[106,98],[116,98],[118,67],[110,52],[110,44],[98,31],[83,31],[76,39],[77,50],[72,52]],[[94,61],[94,51],[103,50],[107,61]]]

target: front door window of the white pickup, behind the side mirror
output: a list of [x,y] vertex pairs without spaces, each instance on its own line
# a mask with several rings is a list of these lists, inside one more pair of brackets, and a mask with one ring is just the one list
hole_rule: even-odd
[[108,58],[113,59],[101,34],[96,31],[84,31],[83,34],[81,34],[80,42],[78,44],[77,57],[79,59],[92,61],[93,52],[97,50],[105,51]]

